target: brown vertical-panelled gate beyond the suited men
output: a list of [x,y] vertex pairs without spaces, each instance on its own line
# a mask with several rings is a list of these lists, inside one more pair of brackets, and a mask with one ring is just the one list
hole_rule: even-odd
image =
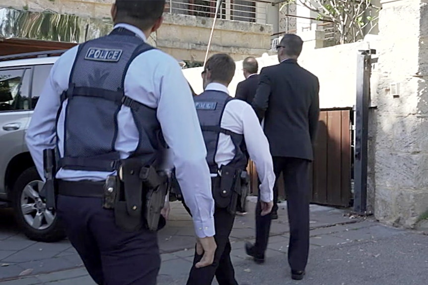
[[[312,171],[312,203],[349,207],[351,195],[351,114],[352,108],[322,109],[320,112]],[[257,195],[257,171],[251,162],[251,190]],[[285,198],[284,181],[279,195]]]

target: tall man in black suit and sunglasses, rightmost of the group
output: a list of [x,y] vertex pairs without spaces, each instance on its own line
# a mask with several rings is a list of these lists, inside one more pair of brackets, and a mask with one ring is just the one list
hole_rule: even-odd
[[[318,78],[297,63],[302,46],[303,41],[297,35],[283,37],[277,46],[280,64],[261,70],[253,101],[259,119],[264,118],[276,182],[281,172],[284,174],[290,225],[288,263],[291,278],[295,280],[303,278],[309,254],[309,165],[313,160],[319,118]],[[274,192],[275,211],[278,209],[276,199],[278,190]],[[269,215],[260,215],[259,205],[256,215],[256,243],[246,244],[246,251],[261,263],[265,258],[271,220]]]

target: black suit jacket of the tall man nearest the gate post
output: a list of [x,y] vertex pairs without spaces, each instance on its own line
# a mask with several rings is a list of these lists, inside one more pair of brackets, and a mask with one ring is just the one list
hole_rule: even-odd
[[253,100],[272,156],[313,160],[319,118],[318,78],[288,59],[264,67]]

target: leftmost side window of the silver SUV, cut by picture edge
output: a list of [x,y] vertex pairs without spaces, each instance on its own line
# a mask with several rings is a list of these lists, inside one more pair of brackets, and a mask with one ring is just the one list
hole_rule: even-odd
[[0,70],[0,112],[29,110],[31,69]]

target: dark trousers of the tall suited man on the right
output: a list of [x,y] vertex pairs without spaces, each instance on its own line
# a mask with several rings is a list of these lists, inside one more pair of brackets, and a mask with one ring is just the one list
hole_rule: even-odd
[[[288,223],[290,239],[288,263],[292,270],[304,270],[309,255],[309,164],[310,161],[289,157],[273,157],[277,178],[284,175],[287,194]],[[259,191],[260,192],[260,191]],[[262,217],[260,194],[256,207],[256,249],[264,253],[268,246],[271,215]]]

